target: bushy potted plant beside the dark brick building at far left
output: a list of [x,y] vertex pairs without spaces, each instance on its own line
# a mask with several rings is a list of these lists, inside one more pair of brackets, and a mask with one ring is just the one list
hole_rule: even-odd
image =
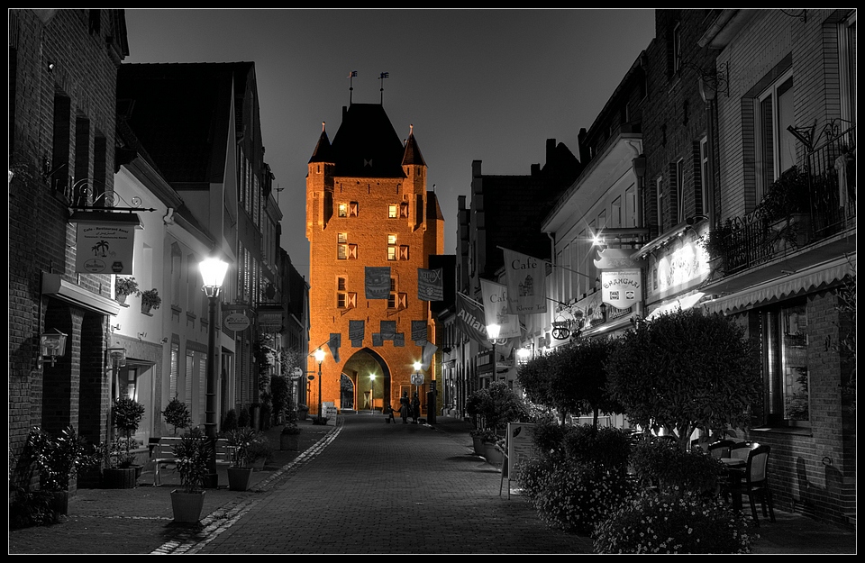
[[55,517],[68,513],[69,482],[78,470],[98,463],[98,457],[72,426],[60,431],[57,437],[34,427],[27,437],[24,455],[39,472],[41,490],[50,492]]

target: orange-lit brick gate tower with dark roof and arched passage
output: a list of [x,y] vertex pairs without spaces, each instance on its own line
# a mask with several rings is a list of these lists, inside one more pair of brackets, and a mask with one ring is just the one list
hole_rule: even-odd
[[[414,391],[425,403],[412,376],[434,331],[430,303],[418,298],[418,268],[444,247],[426,171],[414,132],[400,141],[381,104],[343,107],[332,142],[322,128],[306,176],[310,413],[319,385],[321,400],[340,409],[398,408],[400,395]],[[421,371],[427,388],[430,367]],[[341,392],[343,376],[351,386]]]

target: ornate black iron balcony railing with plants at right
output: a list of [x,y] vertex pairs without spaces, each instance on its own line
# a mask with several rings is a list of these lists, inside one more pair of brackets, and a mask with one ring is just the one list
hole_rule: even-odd
[[[754,268],[781,251],[801,248],[844,232],[856,222],[856,128],[826,132],[824,144],[806,155],[806,210],[782,210],[769,219],[757,209],[734,217],[716,232],[713,258],[724,261],[724,276]],[[803,207],[805,207],[803,205]]]

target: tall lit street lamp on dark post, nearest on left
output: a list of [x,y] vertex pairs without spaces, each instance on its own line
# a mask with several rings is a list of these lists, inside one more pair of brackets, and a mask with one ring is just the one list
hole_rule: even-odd
[[207,461],[207,478],[205,486],[219,486],[219,476],[216,474],[216,302],[219,291],[223,287],[228,264],[221,259],[205,259],[198,265],[204,284],[201,290],[208,300],[207,307],[207,388],[205,401],[205,433],[210,442],[210,459]]

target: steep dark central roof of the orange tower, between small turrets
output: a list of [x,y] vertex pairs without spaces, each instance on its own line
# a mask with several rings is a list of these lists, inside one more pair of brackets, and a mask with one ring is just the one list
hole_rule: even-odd
[[403,143],[381,104],[343,107],[331,150],[335,176],[405,177]]

